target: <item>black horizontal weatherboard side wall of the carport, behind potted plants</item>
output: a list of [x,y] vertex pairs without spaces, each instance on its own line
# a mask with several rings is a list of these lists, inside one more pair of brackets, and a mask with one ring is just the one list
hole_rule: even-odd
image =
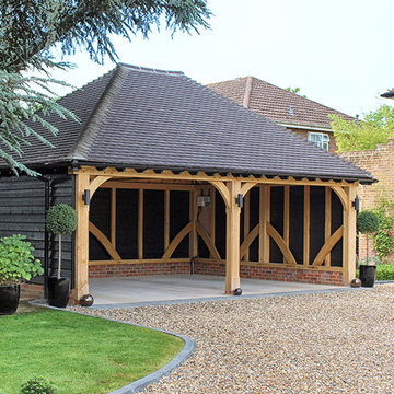
[[[50,205],[68,204],[74,207],[74,178],[68,174],[43,174],[49,179]],[[24,234],[35,247],[34,255],[44,265],[45,241],[45,183],[31,176],[0,177],[0,237]],[[73,235],[62,237],[61,274],[72,277]],[[57,236],[49,237],[49,267],[56,267]],[[56,274],[55,270],[49,275]],[[42,282],[35,278],[34,282]]]

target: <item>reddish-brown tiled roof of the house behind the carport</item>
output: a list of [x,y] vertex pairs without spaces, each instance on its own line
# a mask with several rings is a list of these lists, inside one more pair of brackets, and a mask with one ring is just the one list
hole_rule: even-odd
[[208,86],[281,125],[331,129],[328,114],[339,115],[345,120],[355,120],[349,115],[254,77],[211,83]]

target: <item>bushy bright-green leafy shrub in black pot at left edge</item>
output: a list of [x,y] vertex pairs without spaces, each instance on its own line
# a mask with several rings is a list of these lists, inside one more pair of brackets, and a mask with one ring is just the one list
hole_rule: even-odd
[[0,315],[15,313],[20,283],[44,273],[32,254],[34,247],[25,239],[21,234],[0,239]]

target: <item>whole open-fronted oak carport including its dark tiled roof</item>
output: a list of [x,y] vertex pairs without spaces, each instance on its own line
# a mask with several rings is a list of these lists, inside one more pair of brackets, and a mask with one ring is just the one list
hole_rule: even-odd
[[[22,161],[77,209],[66,270],[74,301],[89,292],[89,275],[184,274],[190,266],[225,276],[227,293],[242,277],[354,279],[354,204],[358,184],[375,182],[371,174],[182,72],[120,63],[60,103],[81,121],[53,115],[57,138],[32,125],[56,148],[32,141]],[[32,187],[3,182],[15,196],[19,184],[26,194]],[[197,207],[201,195],[210,208]],[[25,204],[15,199],[12,209],[23,212]],[[27,219],[20,218],[34,240],[44,210],[34,219],[39,225]],[[11,228],[0,221],[0,231]],[[51,266],[56,243],[47,246]]]

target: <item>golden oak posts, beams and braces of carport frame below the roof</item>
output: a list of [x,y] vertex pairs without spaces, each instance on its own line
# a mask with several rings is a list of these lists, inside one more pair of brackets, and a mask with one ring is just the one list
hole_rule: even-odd
[[[194,264],[194,271],[200,274],[225,275],[225,293],[232,293],[240,287],[240,278],[258,277],[258,269],[266,269],[268,277],[278,279],[271,275],[275,270],[287,273],[301,273],[304,281],[315,281],[322,283],[347,285],[355,277],[356,262],[356,209],[355,198],[358,182],[320,179],[308,177],[291,176],[234,176],[232,174],[207,174],[206,172],[190,173],[173,171],[153,171],[115,167],[97,170],[93,166],[81,166],[73,171],[76,175],[76,207],[78,212],[78,230],[76,234],[76,289],[74,299],[89,292],[89,270],[94,273],[94,268],[107,268],[113,270],[116,267],[143,266],[149,264],[171,265],[174,263]],[[292,190],[300,188],[303,190],[303,212],[302,212],[302,260],[297,260],[290,248],[290,201]],[[138,256],[134,259],[123,259],[116,248],[116,193],[118,189],[138,190]],[[270,197],[273,189],[282,190],[282,229],[278,231],[271,223],[270,215],[274,202]],[[324,194],[324,243],[317,245],[318,252],[311,258],[311,188],[320,189]],[[97,189],[111,190],[111,235],[107,237],[90,220],[90,206],[85,204],[82,196],[85,190],[90,192],[90,197],[94,198]],[[258,223],[251,228],[251,194],[258,194]],[[160,258],[144,258],[143,254],[143,190],[162,190],[164,195],[164,220],[163,227],[163,254]],[[189,194],[189,222],[173,237],[170,236],[170,193],[174,190],[186,190]],[[217,190],[217,192],[216,192]],[[296,190],[296,189],[294,189]],[[221,256],[217,248],[216,215],[210,213],[209,220],[204,223],[199,221],[197,197],[209,195],[211,197],[210,212],[216,212],[219,202],[218,197],[222,198],[225,206],[225,258]],[[244,204],[240,204],[239,197],[242,195]],[[333,196],[340,201],[341,224],[335,231],[332,229]],[[299,202],[298,202],[299,204]],[[243,208],[240,207],[243,205]],[[242,209],[244,212],[241,215]],[[313,210],[312,210],[313,211]],[[338,216],[338,210],[335,213]],[[242,221],[241,221],[242,217]],[[318,219],[318,218],[317,218]],[[255,221],[255,220],[254,220]],[[242,228],[242,229],[241,229]],[[241,230],[242,233],[241,233]],[[92,233],[107,252],[107,260],[90,260],[89,255],[89,233]],[[184,258],[172,258],[172,255],[182,240],[189,237],[189,254]],[[257,241],[256,241],[257,239]],[[341,240],[341,260],[340,265],[332,265],[331,252]],[[258,243],[257,260],[252,260],[250,248],[253,243]],[[280,262],[273,262],[270,251],[271,243],[275,243]],[[199,256],[199,244],[204,243],[209,253],[208,256]],[[278,256],[278,253],[276,252]],[[223,267],[224,266],[224,267]],[[207,270],[208,267],[208,270]],[[144,273],[149,274],[149,273]],[[274,273],[275,274],[275,273]],[[116,274],[115,274],[116,275]],[[121,275],[121,271],[118,274]],[[248,275],[248,276],[247,276]],[[267,278],[268,278],[267,277]],[[286,276],[280,277],[282,280]],[[300,277],[299,277],[300,279]],[[296,278],[297,280],[297,278]],[[320,281],[318,281],[320,280]]]

